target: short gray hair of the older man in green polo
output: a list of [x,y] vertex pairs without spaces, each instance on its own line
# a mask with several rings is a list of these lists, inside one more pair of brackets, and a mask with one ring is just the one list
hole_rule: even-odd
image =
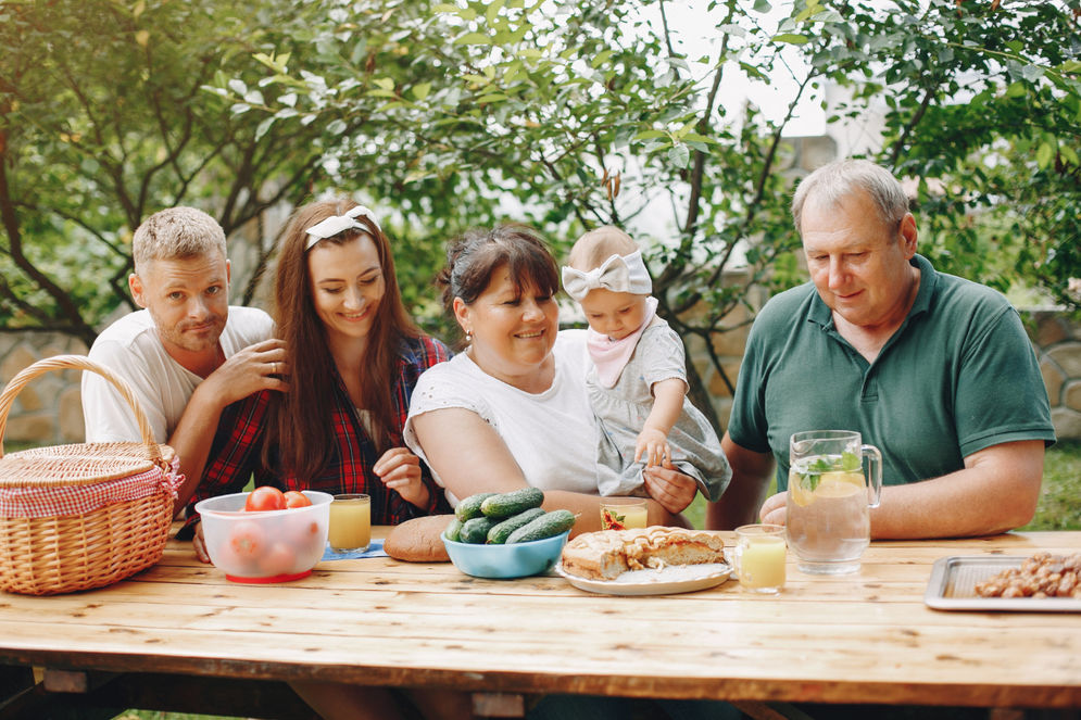
[[835,160],[803,178],[792,198],[792,219],[801,235],[803,205],[814,195],[814,202],[826,209],[841,204],[856,190],[871,197],[879,217],[887,225],[900,224],[908,212],[908,195],[890,170],[869,160]]

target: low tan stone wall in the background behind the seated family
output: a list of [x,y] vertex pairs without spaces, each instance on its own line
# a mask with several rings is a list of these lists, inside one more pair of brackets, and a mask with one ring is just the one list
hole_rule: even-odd
[[[761,302],[755,305],[761,305]],[[1047,387],[1058,439],[1081,440],[1081,324],[1072,323],[1054,311],[1025,312],[1022,317]],[[724,376],[733,386],[739,377],[750,328],[746,320],[747,311],[742,307],[737,310],[725,319],[726,326],[732,329],[713,341],[714,352],[721,359]],[[85,354],[86,346],[78,340],[56,333],[0,333],[0,382],[7,386],[11,378],[32,363],[67,353]],[[713,367],[702,340],[692,338],[688,342],[688,354],[713,397],[717,417],[721,425],[726,425],[732,406],[728,382]],[[78,370],[47,372],[24,387],[8,415],[4,442],[42,445],[81,442],[80,375]]]

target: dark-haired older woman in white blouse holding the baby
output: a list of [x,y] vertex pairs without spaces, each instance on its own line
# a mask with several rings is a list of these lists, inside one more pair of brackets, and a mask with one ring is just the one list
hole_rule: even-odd
[[[582,330],[558,331],[556,263],[521,225],[474,231],[448,251],[443,302],[465,352],[417,382],[406,444],[431,467],[451,504],[526,485],[546,509],[580,514],[575,532],[600,528],[596,428],[586,390]],[[686,525],[694,480],[668,467],[645,471],[651,525]]]

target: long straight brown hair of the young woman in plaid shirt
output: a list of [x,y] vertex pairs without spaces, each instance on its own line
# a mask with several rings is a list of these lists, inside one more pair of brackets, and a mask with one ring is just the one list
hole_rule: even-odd
[[[278,256],[274,282],[275,321],[278,337],[286,344],[291,377],[287,393],[272,393],[269,429],[281,453],[284,469],[302,480],[317,477],[325,470],[335,444],[328,419],[335,406],[335,362],[327,345],[326,328],[312,300],[307,228],[353,207],[356,207],[355,202],[339,198],[298,209],[289,222]],[[356,222],[365,230],[343,230],[315,244],[342,245],[367,235],[379,254],[386,291],[368,333],[361,407],[370,413],[372,442],[382,453],[390,447],[390,432],[398,422],[391,390],[401,340],[416,337],[419,331],[402,304],[387,236],[364,215],[357,216]],[[273,444],[264,445],[264,462],[273,462],[268,452]]]

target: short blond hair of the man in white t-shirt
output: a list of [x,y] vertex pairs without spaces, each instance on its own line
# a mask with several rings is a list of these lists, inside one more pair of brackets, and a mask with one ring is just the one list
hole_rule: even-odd
[[168,207],[144,219],[131,238],[135,271],[155,260],[187,260],[216,251],[228,257],[225,231],[213,217],[194,207]]

